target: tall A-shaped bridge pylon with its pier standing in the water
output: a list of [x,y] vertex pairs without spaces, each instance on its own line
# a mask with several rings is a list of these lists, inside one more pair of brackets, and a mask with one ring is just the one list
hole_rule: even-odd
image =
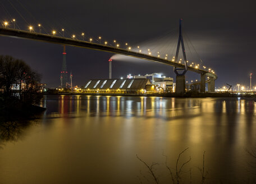
[[179,56],[179,51],[180,51],[180,44],[182,48],[182,54],[183,54],[183,59],[184,59],[184,68],[177,68],[173,67],[174,72],[176,73],[176,89],[175,93],[179,95],[184,95],[185,94],[185,73],[188,71],[188,62],[186,59],[186,53],[185,53],[185,47],[184,47],[184,41],[181,33],[181,23],[182,19],[180,19],[180,29],[179,29],[179,40],[177,44],[177,50],[176,50],[176,55],[175,55],[175,62],[178,61],[178,56]]

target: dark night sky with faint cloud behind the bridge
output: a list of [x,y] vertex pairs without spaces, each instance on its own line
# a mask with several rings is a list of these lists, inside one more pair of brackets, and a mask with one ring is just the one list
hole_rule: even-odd
[[[217,87],[226,83],[249,86],[250,72],[255,73],[252,85],[256,86],[255,1],[1,0],[0,20],[10,18],[16,19],[17,26],[24,30],[32,25],[38,31],[36,25],[40,23],[44,27],[42,33],[61,32],[64,28],[69,37],[75,34],[79,38],[84,32],[85,40],[102,36],[102,42],[112,43],[116,39],[124,48],[126,42],[133,48],[162,45],[163,52],[169,52],[176,44],[179,19],[182,18],[184,31],[203,65],[216,71]],[[24,59],[42,74],[42,82],[48,87],[60,85],[61,45],[3,36],[0,36],[0,43],[0,54]],[[113,54],[76,47],[67,47],[66,52],[67,70],[74,75],[74,85],[108,77],[108,59]],[[170,66],[138,59],[125,60],[113,61],[112,77],[152,72],[175,77]],[[200,76],[188,72],[186,80],[195,79],[199,80]]]

